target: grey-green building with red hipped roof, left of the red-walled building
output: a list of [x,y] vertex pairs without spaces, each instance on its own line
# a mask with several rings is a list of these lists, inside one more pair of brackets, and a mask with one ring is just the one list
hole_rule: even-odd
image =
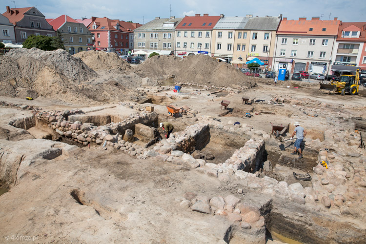
[[82,51],[93,50],[92,35],[86,26],[70,16],[61,15],[47,22],[60,31],[63,45],[71,55]]

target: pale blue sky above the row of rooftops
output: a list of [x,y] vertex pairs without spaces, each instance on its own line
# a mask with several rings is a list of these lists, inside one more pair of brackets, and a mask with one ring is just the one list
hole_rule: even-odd
[[[81,17],[108,17],[138,23],[147,23],[155,17],[184,17],[195,14],[210,16],[279,16],[287,20],[299,17],[321,17],[344,22],[366,22],[365,0],[1,0],[2,12],[6,6],[35,6],[46,18],[66,14],[73,19]],[[171,12],[170,12],[171,9]]]

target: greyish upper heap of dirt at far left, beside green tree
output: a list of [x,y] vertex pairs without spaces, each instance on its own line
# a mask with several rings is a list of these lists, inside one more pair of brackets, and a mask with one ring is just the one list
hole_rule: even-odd
[[65,78],[70,81],[81,82],[98,76],[97,73],[89,68],[83,61],[74,58],[62,49],[56,51],[42,51],[38,48],[20,48],[10,50],[5,56],[15,60],[33,58],[35,61],[43,62],[44,65],[49,66],[51,69],[55,69],[61,76],[65,76]]

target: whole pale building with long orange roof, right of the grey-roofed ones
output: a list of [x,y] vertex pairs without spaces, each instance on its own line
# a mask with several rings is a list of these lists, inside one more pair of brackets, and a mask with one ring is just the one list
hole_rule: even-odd
[[276,49],[272,61],[274,70],[284,68],[291,73],[309,71],[309,64],[312,64],[311,72],[327,74],[339,24],[337,18],[283,18],[276,33]]

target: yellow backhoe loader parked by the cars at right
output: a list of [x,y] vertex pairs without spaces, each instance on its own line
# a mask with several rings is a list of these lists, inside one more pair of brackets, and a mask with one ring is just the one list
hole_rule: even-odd
[[357,95],[358,88],[360,86],[360,70],[356,70],[356,75],[342,75],[339,81],[331,81],[328,84],[324,84],[322,81],[320,84],[320,92],[326,94],[337,94],[345,95]]

